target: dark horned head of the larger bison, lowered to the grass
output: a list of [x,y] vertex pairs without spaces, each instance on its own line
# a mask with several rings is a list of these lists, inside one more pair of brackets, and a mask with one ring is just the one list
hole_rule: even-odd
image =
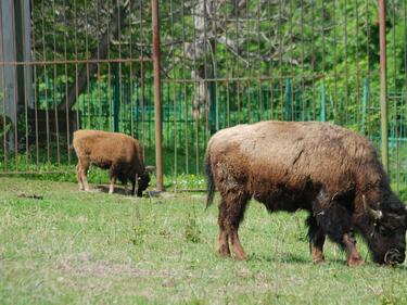
[[402,264],[406,257],[407,209],[393,193],[376,208],[363,198],[367,216],[366,239],[379,264]]

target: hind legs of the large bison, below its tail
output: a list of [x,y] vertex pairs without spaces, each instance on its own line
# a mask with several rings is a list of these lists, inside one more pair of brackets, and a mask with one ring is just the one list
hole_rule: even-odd
[[239,239],[239,225],[243,219],[246,203],[250,196],[241,192],[228,192],[221,195],[219,206],[219,241],[218,253],[220,256],[229,256],[230,250],[228,239],[232,247],[236,259],[246,260],[243,246]]

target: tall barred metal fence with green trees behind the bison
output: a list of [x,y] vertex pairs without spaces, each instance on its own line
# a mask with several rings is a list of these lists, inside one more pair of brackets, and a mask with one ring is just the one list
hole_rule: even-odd
[[[164,173],[202,174],[216,130],[326,120],[380,150],[377,1],[168,0],[160,4]],[[407,181],[407,4],[387,1],[390,174]],[[120,131],[155,163],[151,3],[1,2],[3,173],[73,168],[72,132]],[[9,14],[8,12],[14,12]]]

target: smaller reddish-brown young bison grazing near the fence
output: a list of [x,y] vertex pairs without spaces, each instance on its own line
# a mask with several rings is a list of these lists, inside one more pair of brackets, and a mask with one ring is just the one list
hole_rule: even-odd
[[113,193],[116,179],[125,186],[130,180],[132,195],[138,183],[138,196],[141,196],[149,186],[150,176],[145,170],[143,151],[138,140],[119,132],[77,130],[74,132],[73,145],[78,156],[79,190],[89,191],[87,173],[91,164],[110,169],[109,193]]

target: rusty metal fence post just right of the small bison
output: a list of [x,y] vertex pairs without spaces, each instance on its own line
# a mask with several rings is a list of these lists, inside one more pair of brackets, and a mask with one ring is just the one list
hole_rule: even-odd
[[151,0],[153,27],[153,62],[154,62],[154,119],[155,119],[155,166],[156,188],[163,191],[163,131],[161,117],[161,77],[160,77],[160,24],[158,0]]

